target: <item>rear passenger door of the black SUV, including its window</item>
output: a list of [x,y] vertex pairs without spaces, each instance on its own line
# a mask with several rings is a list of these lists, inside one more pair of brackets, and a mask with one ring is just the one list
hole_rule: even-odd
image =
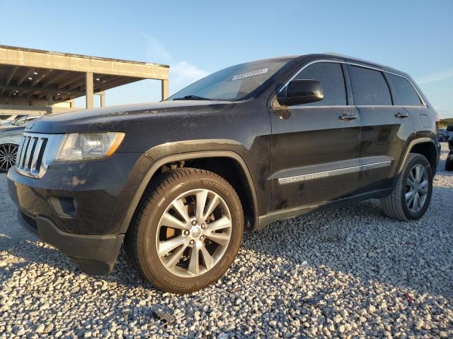
[[398,160],[415,130],[404,107],[393,105],[382,70],[348,64],[354,102],[360,111],[360,192],[391,187]]

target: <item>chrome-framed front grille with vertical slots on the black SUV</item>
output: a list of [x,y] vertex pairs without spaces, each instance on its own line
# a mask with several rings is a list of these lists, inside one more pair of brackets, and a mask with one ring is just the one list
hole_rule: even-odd
[[17,151],[17,172],[27,177],[42,177],[61,137],[58,134],[24,133]]

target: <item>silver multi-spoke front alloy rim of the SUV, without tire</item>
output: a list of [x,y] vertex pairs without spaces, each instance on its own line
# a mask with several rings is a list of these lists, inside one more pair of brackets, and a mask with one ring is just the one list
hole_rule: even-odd
[[231,238],[231,214],[221,196],[207,189],[180,194],[157,228],[156,249],[170,273],[193,278],[219,263]]

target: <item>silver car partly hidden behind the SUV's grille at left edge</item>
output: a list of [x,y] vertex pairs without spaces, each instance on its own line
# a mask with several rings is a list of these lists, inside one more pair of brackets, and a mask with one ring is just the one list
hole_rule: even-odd
[[38,118],[40,117],[21,117],[12,121],[11,125],[0,128],[0,172],[8,172],[8,169],[14,165],[23,130],[31,121]]

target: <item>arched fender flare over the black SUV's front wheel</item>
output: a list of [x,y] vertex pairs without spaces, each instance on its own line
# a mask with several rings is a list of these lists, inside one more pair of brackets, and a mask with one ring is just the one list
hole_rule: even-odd
[[[187,153],[178,153],[173,155],[166,155],[164,157],[159,157],[152,161],[151,167],[147,170],[146,174],[142,178],[137,190],[132,197],[132,201],[129,204],[129,208],[127,208],[127,213],[125,218],[122,220],[120,233],[126,233],[127,229],[129,228],[130,222],[132,222],[132,218],[134,217],[135,211],[139,206],[140,201],[142,200],[142,196],[144,191],[147,189],[149,182],[151,181],[151,177],[156,173],[156,171],[162,166],[167,164],[168,162],[177,162],[180,160],[191,160],[197,159],[202,157],[229,157],[236,162],[239,163],[243,173],[246,175],[247,184],[250,187],[251,197],[253,201],[253,211],[254,211],[254,219],[258,220],[258,198],[256,195],[255,185],[253,184],[253,179],[251,177],[250,171],[246,165],[246,162],[243,158],[236,152],[231,150],[207,150],[207,151],[195,151],[195,152],[187,152]],[[258,225],[258,224],[256,224]]]

